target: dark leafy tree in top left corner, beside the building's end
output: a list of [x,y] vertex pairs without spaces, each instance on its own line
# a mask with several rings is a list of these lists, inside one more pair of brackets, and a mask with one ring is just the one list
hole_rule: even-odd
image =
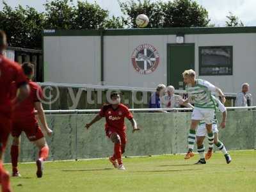
[[17,6],[14,10],[3,1],[0,12],[0,28],[6,32],[8,45],[12,47],[41,47],[41,31],[44,28],[44,14],[35,8]]

